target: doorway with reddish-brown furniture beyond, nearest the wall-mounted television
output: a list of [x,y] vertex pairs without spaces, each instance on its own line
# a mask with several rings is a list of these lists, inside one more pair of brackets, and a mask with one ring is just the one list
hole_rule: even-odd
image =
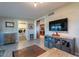
[[45,36],[45,24],[44,20],[36,21],[36,38],[44,39]]

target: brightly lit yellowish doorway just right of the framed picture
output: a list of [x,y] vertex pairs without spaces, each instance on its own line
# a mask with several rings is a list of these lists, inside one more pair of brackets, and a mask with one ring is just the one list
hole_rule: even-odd
[[19,41],[26,41],[26,29],[27,23],[26,21],[18,21],[18,33],[19,33]]

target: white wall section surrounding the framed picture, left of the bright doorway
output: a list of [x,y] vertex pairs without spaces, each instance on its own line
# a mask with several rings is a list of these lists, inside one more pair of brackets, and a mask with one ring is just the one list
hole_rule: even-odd
[[[6,27],[5,22],[14,22],[14,27]],[[2,32],[17,33],[17,31],[18,31],[17,19],[2,19]]]

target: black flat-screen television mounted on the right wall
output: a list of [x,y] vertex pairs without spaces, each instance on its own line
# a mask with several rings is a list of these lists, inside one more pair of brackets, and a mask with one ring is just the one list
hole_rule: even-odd
[[49,31],[68,31],[68,18],[50,21]]

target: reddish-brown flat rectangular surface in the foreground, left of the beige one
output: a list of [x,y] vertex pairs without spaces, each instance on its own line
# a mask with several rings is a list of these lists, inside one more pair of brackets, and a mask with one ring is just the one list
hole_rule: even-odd
[[44,49],[37,45],[32,45],[21,50],[12,52],[13,57],[37,57],[46,52]]

